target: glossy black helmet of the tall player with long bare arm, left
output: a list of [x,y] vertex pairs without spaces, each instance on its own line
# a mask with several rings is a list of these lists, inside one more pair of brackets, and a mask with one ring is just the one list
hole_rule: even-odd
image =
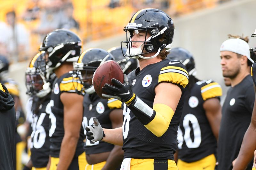
[[76,62],[81,53],[81,39],[72,31],[57,29],[48,33],[39,51],[45,51],[46,72],[59,67],[63,62]]

